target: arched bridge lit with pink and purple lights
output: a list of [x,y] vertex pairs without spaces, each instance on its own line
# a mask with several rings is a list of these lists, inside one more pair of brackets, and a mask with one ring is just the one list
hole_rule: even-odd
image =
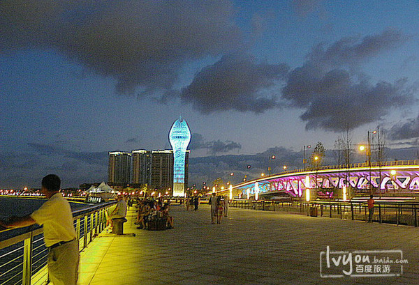
[[258,199],[264,195],[302,197],[309,189],[315,197],[342,199],[344,188],[351,196],[419,194],[419,160],[286,171],[231,185],[220,192],[230,192],[230,197]]

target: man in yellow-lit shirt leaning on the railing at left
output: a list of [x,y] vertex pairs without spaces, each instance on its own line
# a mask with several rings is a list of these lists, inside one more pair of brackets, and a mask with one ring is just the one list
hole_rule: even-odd
[[41,208],[24,217],[10,217],[0,224],[7,228],[43,225],[50,281],[54,285],[75,285],[80,255],[70,203],[59,193],[61,180],[57,175],[45,176],[41,185],[41,193],[48,199]]

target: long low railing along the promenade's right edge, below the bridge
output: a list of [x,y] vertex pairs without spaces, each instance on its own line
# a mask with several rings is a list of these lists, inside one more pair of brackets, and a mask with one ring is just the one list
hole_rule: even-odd
[[[233,200],[230,206],[361,221],[367,221],[369,215],[368,205],[365,201]],[[373,222],[418,226],[418,210],[419,203],[375,201]]]

